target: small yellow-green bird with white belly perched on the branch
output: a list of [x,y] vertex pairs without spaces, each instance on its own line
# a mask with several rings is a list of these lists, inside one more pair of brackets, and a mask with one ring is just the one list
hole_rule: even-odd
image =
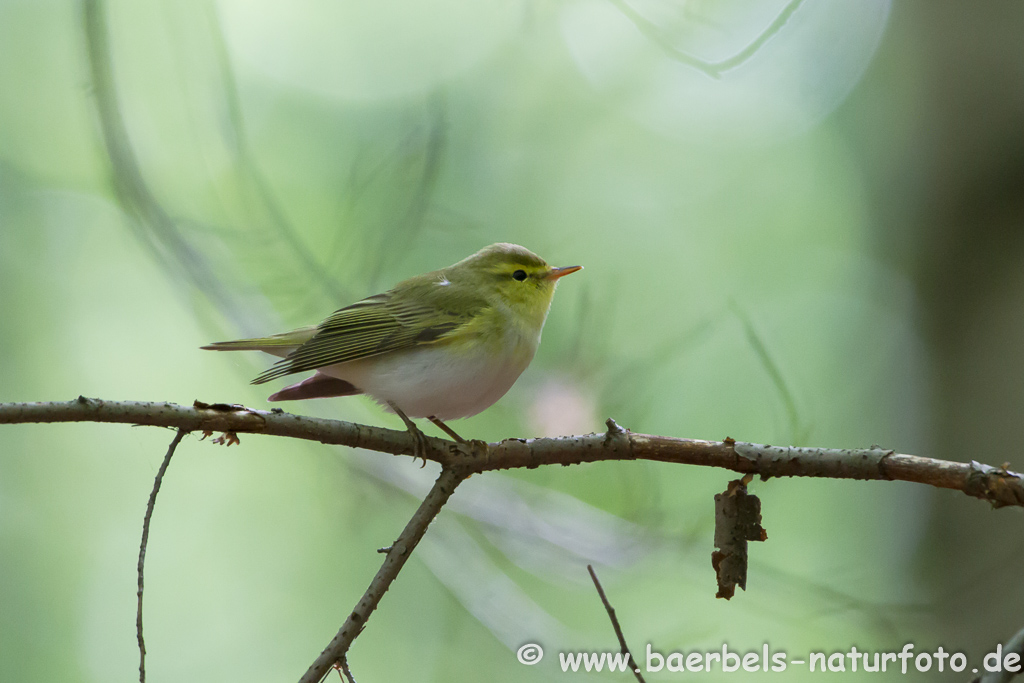
[[396,413],[419,444],[410,418],[427,418],[463,441],[444,420],[476,415],[505,395],[541,343],[558,280],[582,268],[552,267],[523,247],[495,244],[317,326],[203,348],[282,358],[253,384],[314,371],[267,400],[367,394]]

